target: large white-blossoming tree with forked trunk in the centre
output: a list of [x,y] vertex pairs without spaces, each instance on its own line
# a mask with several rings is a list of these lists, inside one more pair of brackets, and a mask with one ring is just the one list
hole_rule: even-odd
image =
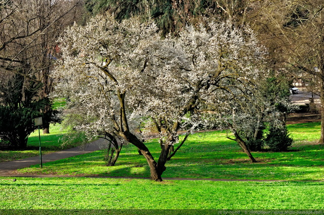
[[[178,132],[213,125],[206,106],[222,106],[219,92],[251,84],[263,50],[253,32],[231,23],[187,27],[178,38],[161,39],[154,23],[138,18],[116,22],[97,16],[74,25],[61,39],[62,61],[54,77],[56,94],[81,120],[76,127],[110,134],[135,145],[146,158],[151,178],[161,181]],[[156,161],[136,132],[143,118],[159,132]],[[147,131],[147,128],[146,128]]]

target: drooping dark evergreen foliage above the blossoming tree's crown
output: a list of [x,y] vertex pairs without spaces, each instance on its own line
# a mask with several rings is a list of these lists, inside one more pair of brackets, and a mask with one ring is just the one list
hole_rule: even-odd
[[177,34],[189,22],[195,24],[202,16],[215,15],[216,11],[220,11],[213,0],[180,2],[172,0],[86,0],[85,6],[86,10],[94,16],[109,11],[119,21],[132,16],[152,18],[163,35]]

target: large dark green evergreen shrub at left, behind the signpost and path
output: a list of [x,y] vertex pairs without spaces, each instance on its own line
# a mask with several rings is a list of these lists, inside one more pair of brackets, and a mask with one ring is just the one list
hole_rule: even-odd
[[[27,86],[27,87],[26,87]],[[27,146],[28,136],[36,129],[33,119],[43,117],[43,126],[51,122],[60,122],[58,111],[44,108],[51,106],[48,98],[39,99],[38,91],[42,84],[26,80],[17,73],[7,82],[2,82],[0,92],[0,140],[12,148]]]

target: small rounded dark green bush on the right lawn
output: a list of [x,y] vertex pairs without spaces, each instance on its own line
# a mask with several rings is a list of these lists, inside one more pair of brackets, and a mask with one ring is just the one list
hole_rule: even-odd
[[265,139],[266,145],[274,152],[287,151],[293,144],[286,125],[282,127],[270,126],[269,132]]

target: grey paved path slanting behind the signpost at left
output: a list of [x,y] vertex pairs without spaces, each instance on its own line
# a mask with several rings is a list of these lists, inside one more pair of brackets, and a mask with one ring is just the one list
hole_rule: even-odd
[[[50,161],[60,160],[67,157],[73,157],[80,154],[86,154],[93,151],[98,151],[102,149],[104,144],[105,143],[103,139],[98,139],[94,142],[87,144],[86,146],[79,146],[71,149],[66,149],[63,151],[53,152],[50,154],[43,154],[42,155],[43,164]],[[40,163],[39,156],[29,157],[21,160],[3,162],[0,163],[0,176],[13,176],[13,174],[11,174],[12,171],[19,168],[28,167],[30,165],[39,164],[39,163]]]

